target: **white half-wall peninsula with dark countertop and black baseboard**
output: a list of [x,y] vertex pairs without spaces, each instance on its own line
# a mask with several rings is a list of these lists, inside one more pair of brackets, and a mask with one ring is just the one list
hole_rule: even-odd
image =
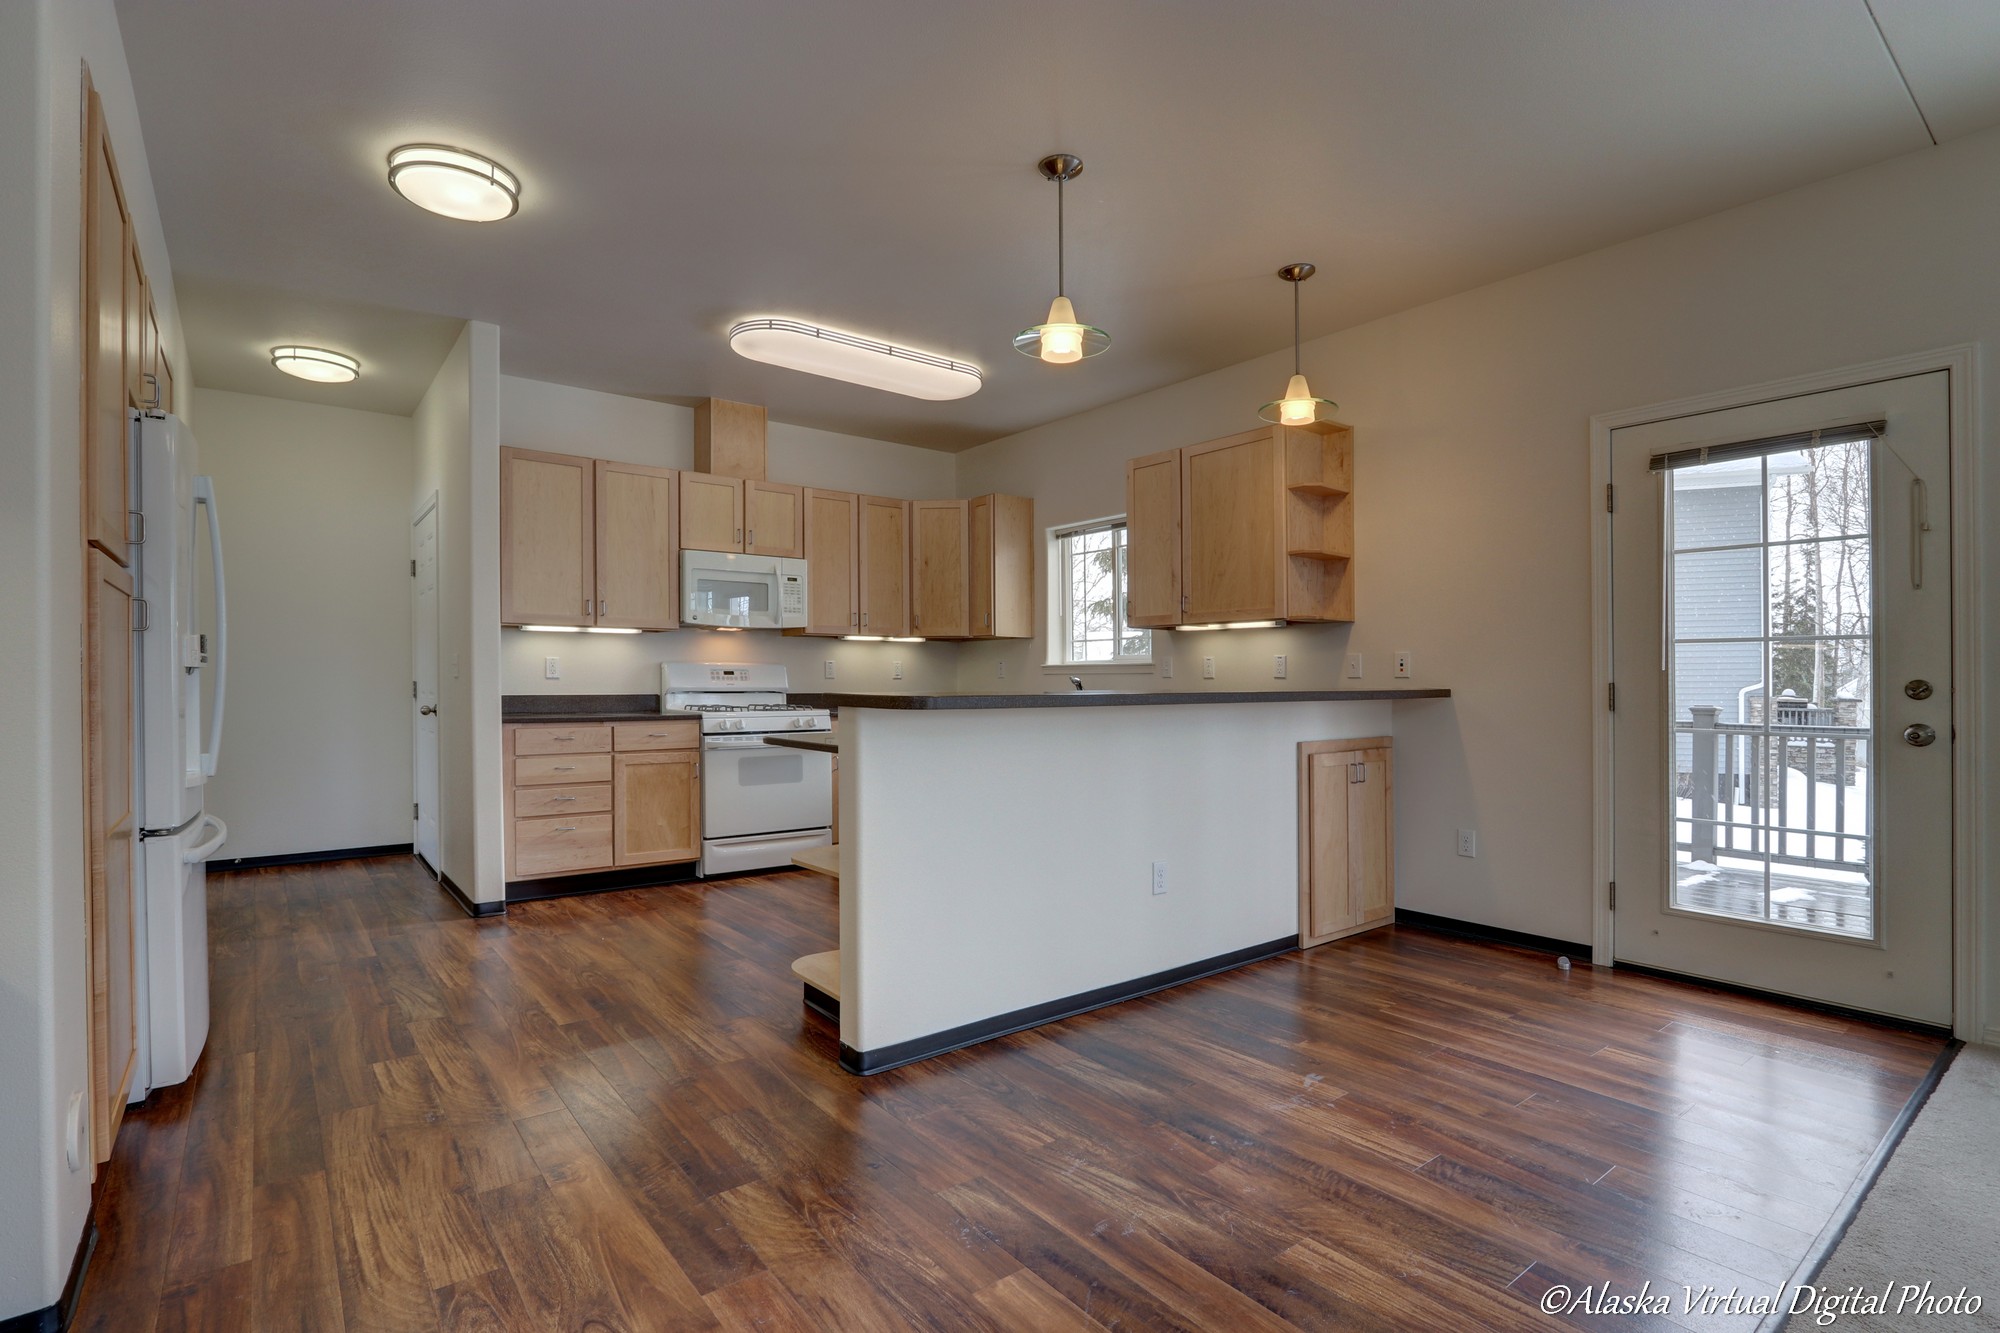
[[1292,949],[1298,743],[1388,737],[1398,705],[1448,697],[794,695],[840,711],[842,1067]]

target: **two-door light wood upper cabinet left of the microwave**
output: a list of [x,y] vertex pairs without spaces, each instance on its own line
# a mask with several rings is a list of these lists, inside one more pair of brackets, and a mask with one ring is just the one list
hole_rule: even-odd
[[680,472],[500,450],[500,622],[680,624]]

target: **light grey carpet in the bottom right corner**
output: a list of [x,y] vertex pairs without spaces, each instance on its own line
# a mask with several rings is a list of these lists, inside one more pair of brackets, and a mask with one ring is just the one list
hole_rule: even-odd
[[[1834,1327],[2000,1329],[2000,1049],[1958,1053],[1814,1285],[1856,1301],[1886,1289],[1888,1309],[1856,1307]],[[1978,1311],[1964,1309],[1972,1297]],[[1824,1325],[1798,1313],[1788,1327]]]

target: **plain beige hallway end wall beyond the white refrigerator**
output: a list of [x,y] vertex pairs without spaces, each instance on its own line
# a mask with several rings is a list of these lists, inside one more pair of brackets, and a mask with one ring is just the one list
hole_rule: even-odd
[[408,416],[194,394],[228,540],[224,859],[410,841]]

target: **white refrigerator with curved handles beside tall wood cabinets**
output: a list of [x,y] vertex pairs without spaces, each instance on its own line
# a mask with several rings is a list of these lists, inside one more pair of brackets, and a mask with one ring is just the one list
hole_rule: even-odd
[[[208,875],[228,827],[204,805],[222,739],[228,602],[216,492],[178,416],[132,412],[138,745],[132,1101],[194,1073],[208,1041]],[[202,558],[206,556],[206,560]],[[200,566],[206,564],[206,570]],[[206,612],[206,616],[204,616]],[[204,622],[212,632],[204,632]]]

